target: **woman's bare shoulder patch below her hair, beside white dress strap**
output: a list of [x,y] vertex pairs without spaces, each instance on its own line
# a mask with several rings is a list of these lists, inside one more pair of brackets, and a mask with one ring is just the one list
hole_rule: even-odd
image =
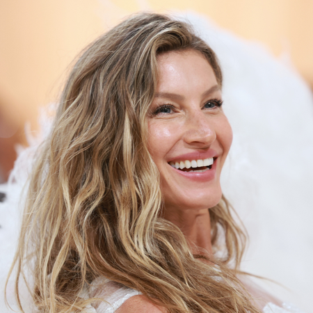
[[163,307],[154,305],[145,296],[133,296],[125,301],[116,313],[166,313]]

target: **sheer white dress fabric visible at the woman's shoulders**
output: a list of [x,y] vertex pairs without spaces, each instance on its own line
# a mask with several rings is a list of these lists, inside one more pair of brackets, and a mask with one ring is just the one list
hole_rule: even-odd
[[[113,313],[132,296],[140,295],[141,292],[125,287],[118,282],[112,282],[105,278],[97,278],[93,281],[90,291],[84,296],[104,298],[97,307],[88,305],[86,313]],[[267,303],[263,313],[303,313],[291,303],[282,303],[282,306]]]

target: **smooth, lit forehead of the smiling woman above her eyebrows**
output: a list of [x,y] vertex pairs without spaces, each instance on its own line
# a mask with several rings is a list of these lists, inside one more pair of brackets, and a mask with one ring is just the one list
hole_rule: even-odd
[[217,85],[207,58],[199,51],[170,51],[158,56],[157,92],[175,89],[181,93]]

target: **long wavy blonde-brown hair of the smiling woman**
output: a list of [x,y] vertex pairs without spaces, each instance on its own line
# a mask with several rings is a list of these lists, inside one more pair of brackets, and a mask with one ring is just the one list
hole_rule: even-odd
[[83,312],[95,299],[79,295],[99,276],[172,313],[259,312],[236,276],[245,237],[224,197],[209,209],[214,251],[224,253],[209,262],[161,217],[146,117],[157,56],[182,49],[200,51],[222,84],[214,51],[165,15],[131,16],[79,57],[33,168],[13,264],[18,301],[29,264],[39,312]]

